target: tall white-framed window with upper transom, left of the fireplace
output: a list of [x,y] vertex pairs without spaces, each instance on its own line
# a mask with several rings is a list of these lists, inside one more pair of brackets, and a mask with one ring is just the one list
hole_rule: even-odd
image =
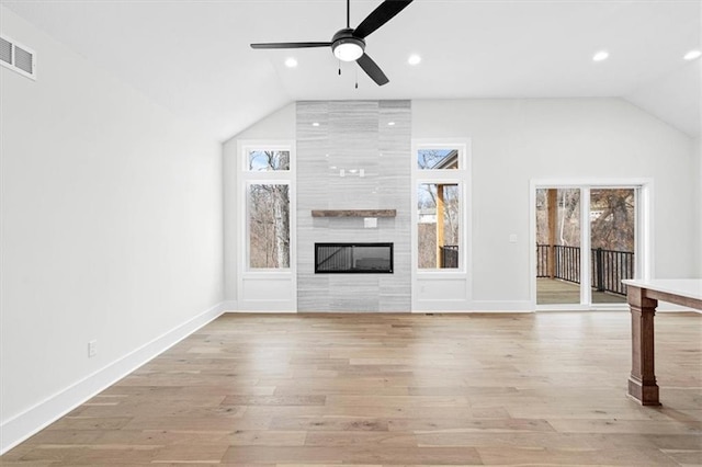
[[242,148],[246,267],[287,270],[292,262],[293,210],[291,147]]

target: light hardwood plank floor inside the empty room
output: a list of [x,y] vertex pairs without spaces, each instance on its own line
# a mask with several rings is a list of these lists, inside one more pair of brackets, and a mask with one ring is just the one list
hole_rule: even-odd
[[702,316],[656,332],[650,408],[627,312],[226,315],[0,465],[702,465]]

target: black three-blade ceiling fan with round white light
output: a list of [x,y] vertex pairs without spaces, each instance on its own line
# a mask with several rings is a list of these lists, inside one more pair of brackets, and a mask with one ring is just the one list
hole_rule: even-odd
[[[251,44],[251,48],[307,48],[331,47],[335,57],[341,61],[356,61],[377,86],[386,84],[389,80],[375,61],[365,53],[365,37],[383,24],[390,21],[412,0],[385,0],[369,14],[356,29],[350,26],[350,0],[347,0],[347,26],[331,37],[330,42],[282,42]],[[339,71],[341,72],[341,71]]]

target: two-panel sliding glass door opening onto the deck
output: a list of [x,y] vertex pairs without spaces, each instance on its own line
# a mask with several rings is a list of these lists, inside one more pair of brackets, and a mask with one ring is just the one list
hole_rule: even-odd
[[636,270],[638,186],[542,185],[534,192],[540,308],[626,303]]

